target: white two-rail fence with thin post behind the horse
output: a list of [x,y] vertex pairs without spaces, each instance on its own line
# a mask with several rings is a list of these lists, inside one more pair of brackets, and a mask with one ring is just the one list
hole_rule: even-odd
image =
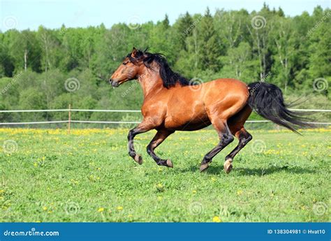
[[[331,112],[331,110],[318,110],[318,109],[290,109],[293,111],[302,112]],[[140,110],[89,110],[89,109],[54,109],[54,110],[0,110],[1,112],[68,112],[67,120],[58,121],[45,121],[45,122],[1,122],[0,126],[4,125],[20,125],[20,124],[58,124],[58,123],[95,123],[95,124],[138,124],[140,122],[124,122],[124,121],[85,121],[85,120],[72,120],[71,112],[140,112]],[[247,123],[263,123],[270,122],[268,120],[249,120]],[[309,122],[310,124],[317,125],[331,125],[331,122]]]

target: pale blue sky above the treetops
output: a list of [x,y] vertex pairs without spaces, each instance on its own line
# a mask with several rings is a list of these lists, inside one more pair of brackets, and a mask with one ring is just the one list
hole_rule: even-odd
[[209,6],[238,10],[260,10],[263,2],[270,8],[281,6],[286,15],[300,15],[304,10],[312,13],[317,5],[330,8],[330,0],[0,0],[1,31],[8,28],[38,29],[43,24],[48,28],[96,26],[106,27],[118,22],[157,22],[165,13],[170,23],[181,13],[204,13]]

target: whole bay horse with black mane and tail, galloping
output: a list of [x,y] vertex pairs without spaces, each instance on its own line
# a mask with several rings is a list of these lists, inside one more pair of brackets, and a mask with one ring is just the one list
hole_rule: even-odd
[[133,138],[152,129],[157,132],[147,146],[147,153],[159,166],[172,168],[172,161],[161,159],[154,149],[175,131],[195,131],[212,124],[219,134],[219,144],[203,158],[201,172],[235,136],[239,144],[224,162],[225,172],[230,173],[233,158],[252,139],[244,129],[252,110],[291,131],[309,126],[302,113],[288,110],[281,89],[275,85],[266,82],[247,85],[228,78],[194,85],[195,82],[172,71],[163,54],[133,48],[109,82],[118,87],[128,80],[138,80],[144,94],[142,122],[128,132],[128,154],[140,165],[142,157],[135,152]]

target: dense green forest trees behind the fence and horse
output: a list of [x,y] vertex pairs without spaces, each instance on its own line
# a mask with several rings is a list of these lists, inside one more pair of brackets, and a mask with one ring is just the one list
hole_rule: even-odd
[[[219,9],[212,14],[207,8],[203,14],[180,15],[171,25],[165,15],[156,23],[119,23],[110,29],[104,24],[10,29],[0,32],[0,109],[68,108],[69,103],[73,108],[139,109],[142,94],[135,82],[114,91],[106,81],[133,46],[165,54],[170,66],[189,79],[265,80],[287,96],[314,93],[329,103],[330,17],[330,9],[320,6],[311,15],[288,17],[281,8],[264,4],[251,13]],[[65,114],[0,113],[0,120],[61,115]],[[76,115],[76,119],[109,117]]]

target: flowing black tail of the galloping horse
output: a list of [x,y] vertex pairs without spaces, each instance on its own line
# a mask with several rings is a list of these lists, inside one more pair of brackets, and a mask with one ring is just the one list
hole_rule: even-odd
[[249,106],[258,115],[270,119],[272,122],[297,132],[297,128],[313,126],[309,119],[303,117],[307,113],[288,110],[289,105],[284,103],[283,93],[276,85],[266,82],[253,82],[249,86]]

